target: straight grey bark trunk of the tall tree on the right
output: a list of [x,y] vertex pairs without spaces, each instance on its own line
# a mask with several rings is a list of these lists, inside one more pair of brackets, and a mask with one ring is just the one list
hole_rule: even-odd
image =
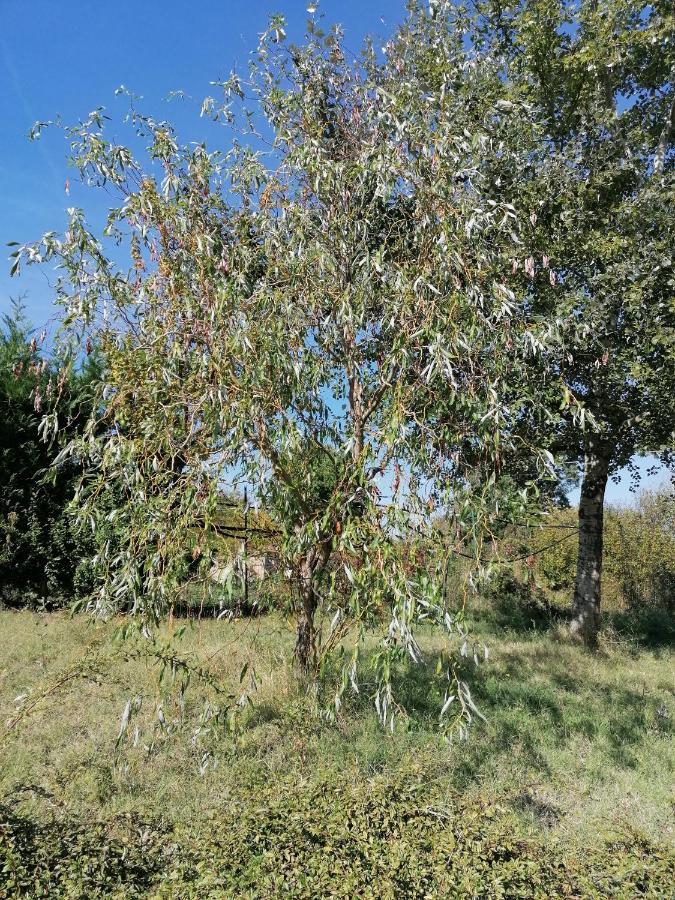
[[579,556],[570,631],[587,647],[595,647],[600,626],[602,524],[609,459],[590,447],[584,455],[579,498]]

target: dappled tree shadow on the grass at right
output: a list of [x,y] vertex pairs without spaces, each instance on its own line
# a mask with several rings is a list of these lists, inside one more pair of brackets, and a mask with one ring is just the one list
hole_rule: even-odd
[[[438,730],[444,700],[435,676],[438,662],[438,654],[429,654],[425,665],[401,666],[395,673],[394,694],[411,717],[411,730]],[[454,784],[461,788],[490,777],[502,764],[551,776],[549,760],[578,748],[580,740],[602,762],[600,768],[641,765],[654,730],[672,733],[674,710],[659,713],[662,697],[596,672],[586,651],[545,638],[505,649],[487,664],[465,663],[461,677],[487,722],[478,724],[456,754]],[[367,703],[355,698],[350,710],[363,713]]]

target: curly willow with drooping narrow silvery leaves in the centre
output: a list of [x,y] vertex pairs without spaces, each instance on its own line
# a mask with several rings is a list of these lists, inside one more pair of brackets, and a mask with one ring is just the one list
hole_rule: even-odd
[[[100,548],[92,608],[125,603],[146,624],[163,615],[187,534],[204,576],[218,492],[236,476],[280,520],[298,669],[320,667],[350,627],[378,625],[387,724],[395,664],[422,658],[415,626],[436,622],[465,643],[460,598],[418,552],[430,498],[451,511],[449,552],[479,555],[511,449],[502,386],[555,333],[505,284],[520,224],[483,183],[522,121],[479,102],[495,64],[467,50],[450,9],[413,8],[382,53],[366,44],[358,59],[337,27],[310,19],[296,46],[273,18],[247,79],[233,75],[202,107],[232,129],[225,152],[181,146],[169,124],[132,110],[143,162],[95,112],[68,136],[82,177],[121,195],[106,235],[72,210],[63,237],[17,257],[58,261],[70,345],[95,338],[107,361],[90,435],[64,451],[90,460],[81,502],[94,526],[106,485],[120,497],[108,518],[122,538]],[[443,61],[434,93],[420,47]],[[128,267],[106,239],[128,249]],[[427,420],[420,396],[432,405],[449,385],[442,425]],[[338,703],[357,689],[355,647]]]

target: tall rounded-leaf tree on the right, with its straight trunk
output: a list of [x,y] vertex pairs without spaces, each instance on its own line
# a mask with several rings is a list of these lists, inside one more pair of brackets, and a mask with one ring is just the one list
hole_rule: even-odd
[[532,213],[520,278],[533,310],[578,326],[547,365],[583,402],[589,427],[563,413],[550,447],[580,469],[572,630],[593,645],[608,479],[636,454],[668,459],[675,446],[672,4],[476,8],[476,43],[503,60],[502,100],[527,102],[540,126],[504,180]]

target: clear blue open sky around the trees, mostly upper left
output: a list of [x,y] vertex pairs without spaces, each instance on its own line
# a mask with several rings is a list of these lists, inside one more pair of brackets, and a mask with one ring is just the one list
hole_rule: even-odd
[[[66,145],[57,132],[30,143],[35,121],[60,115],[74,122],[101,105],[121,116],[125,101],[114,91],[124,84],[143,95],[144,111],[170,118],[184,139],[211,144],[219,132],[199,119],[196,105],[210,93],[209,82],[234,66],[245,70],[270,13],[284,13],[289,33],[300,37],[307,6],[308,0],[0,0],[0,246],[61,230],[69,206],[82,205],[95,218],[103,211],[101,196],[75,184],[66,195],[66,179],[74,181]],[[404,6],[404,0],[322,0],[320,10],[328,22],[342,23],[357,50],[364,35],[386,35]],[[169,106],[164,98],[175,90],[195,104]],[[19,295],[36,325],[53,317],[46,273],[10,279],[9,262],[0,261],[0,312]],[[608,500],[630,502],[625,479],[609,485]]]

